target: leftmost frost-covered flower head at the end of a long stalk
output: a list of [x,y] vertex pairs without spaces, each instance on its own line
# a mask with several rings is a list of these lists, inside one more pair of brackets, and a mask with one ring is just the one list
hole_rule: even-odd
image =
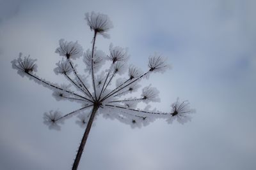
[[30,55],[25,56],[22,59],[22,53],[19,53],[19,58],[12,60],[13,69],[17,69],[20,76],[24,76],[26,73],[32,73],[36,71],[36,59],[30,59]]

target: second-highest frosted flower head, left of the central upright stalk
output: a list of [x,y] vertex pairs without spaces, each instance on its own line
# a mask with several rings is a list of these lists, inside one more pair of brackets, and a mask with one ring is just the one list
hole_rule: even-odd
[[76,42],[67,42],[60,39],[60,46],[56,49],[56,53],[60,56],[67,57],[67,59],[77,59],[83,55],[83,47]]

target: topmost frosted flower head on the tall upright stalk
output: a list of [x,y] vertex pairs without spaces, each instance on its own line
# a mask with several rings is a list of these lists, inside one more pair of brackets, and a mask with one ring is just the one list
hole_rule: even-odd
[[100,33],[105,38],[108,38],[109,35],[106,32],[113,28],[113,24],[111,20],[109,20],[108,15],[104,15],[102,13],[85,13],[85,20],[87,21],[88,26],[95,33]]

